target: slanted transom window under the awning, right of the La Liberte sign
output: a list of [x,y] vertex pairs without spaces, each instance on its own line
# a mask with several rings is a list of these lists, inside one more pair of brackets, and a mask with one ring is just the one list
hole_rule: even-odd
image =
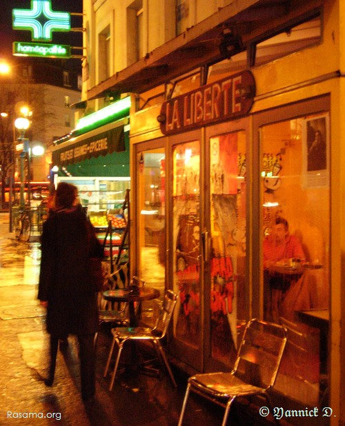
[[272,34],[255,44],[255,59],[251,65],[262,65],[320,43],[321,36],[321,17],[319,15],[295,26],[284,28],[279,33]]

